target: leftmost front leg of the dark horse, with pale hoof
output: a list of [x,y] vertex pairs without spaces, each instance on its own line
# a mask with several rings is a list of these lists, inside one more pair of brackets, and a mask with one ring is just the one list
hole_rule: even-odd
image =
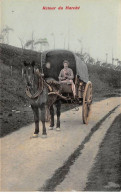
[[33,137],[38,137],[39,134],[39,109],[38,107],[35,107],[31,105],[33,114],[34,114],[34,122],[35,122],[35,131],[33,134]]

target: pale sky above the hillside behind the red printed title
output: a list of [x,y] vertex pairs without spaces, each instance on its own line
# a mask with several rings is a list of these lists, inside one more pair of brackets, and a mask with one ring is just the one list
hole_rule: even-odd
[[[7,25],[9,44],[21,47],[33,37],[47,38],[49,49],[89,52],[96,60],[121,60],[121,0],[1,0],[1,29]],[[56,7],[43,10],[43,6]],[[58,10],[58,7],[63,10]],[[80,7],[66,10],[65,7]],[[79,41],[81,40],[81,41]]]

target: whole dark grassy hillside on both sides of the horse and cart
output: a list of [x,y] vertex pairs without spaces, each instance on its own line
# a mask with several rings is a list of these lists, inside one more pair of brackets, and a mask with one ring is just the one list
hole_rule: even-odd
[[[4,136],[33,122],[33,113],[25,95],[21,70],[23,60],[35,60],[40,64],[40,53],[5,44],[0,44],[0,53],[0,120],[1,136]],[[91,65],[88,65],[88,70],[93,84],[93,100],[121,94],[121,72]]]

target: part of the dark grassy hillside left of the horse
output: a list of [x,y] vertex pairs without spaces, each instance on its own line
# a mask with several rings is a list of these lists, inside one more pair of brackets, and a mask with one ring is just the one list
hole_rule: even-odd
[[[1,132],[4,136],[23,125],[33,122],[33,113],[25,95],[22,79],[23,60],[40,62],[37,52],[0,44]],[[11,66],[12,75],[11,75]]]

